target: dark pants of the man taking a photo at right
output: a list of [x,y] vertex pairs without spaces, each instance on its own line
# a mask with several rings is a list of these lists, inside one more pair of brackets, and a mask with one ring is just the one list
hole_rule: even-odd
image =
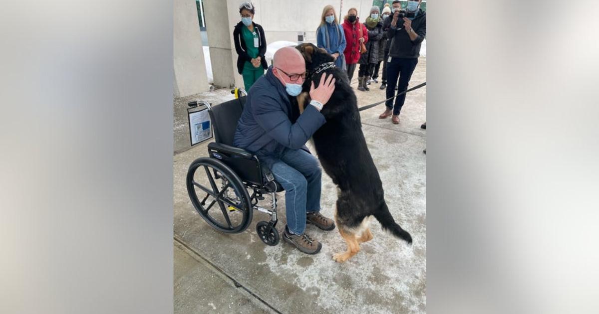
[[[391,98],[395,93],[395,84],[397,84],[397,93],[404,92],[408,89],[408,83],[416,65],[418,64],[418,58],[414,59],[398,59],[392,58],[391,62],[387,63],[387,98]],[[399,77],[400,81],[397,81]],[[395,97],[395,105],[393,99],[389,99],[385,102],[387,108],[393,108],[393,114],[399,115],[401,107],[404,105],[406,100],[406,94]]]

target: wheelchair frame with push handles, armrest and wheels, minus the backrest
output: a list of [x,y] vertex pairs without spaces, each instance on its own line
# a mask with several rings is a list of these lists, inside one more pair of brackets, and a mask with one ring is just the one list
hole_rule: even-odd
[[[240,89],[240,92],[246,94],[244,90]],[[238,99],[237,93],[235,93],[235,96],[236,99]],[[241,100],[238,101],[243,111],[243,103]],[[229,102],[223,102],[216,106],[225,103]],[[219,136],[219,126],[216,124],[216,121],[218,120],[214,111],[216,106],[213,108],[213,106],[205,100],[196,100],[188,103],[188,105],[204,105],[207,107],[216,139],[215,142],[208,144],[208,157],[196,158],[187,170],[187,193],[189,194],[193,207],[211,227],[224,233],[241,233],[246,230],[252,221],[253,211],[268,214],[271,217],[270,221],[259,221],[256,225],[256,231],[262,242],[267,245],[277,245],[280,237],[279,232],[276,229],[276,224],[278,222],[276,192],[282,191],[280,184],[274,180],[274,177],[270,173],[266,173],[265,175],[258,157],[254,154],[242,150],[241,148],[232,147],[222,143],[222,136]],[[224,111],[226,109],[222,110]],[[220,114],[223,114],[223,112],[220,112]],[[204,167],[208,177],[209,187],[196,182],[194,179],[196,170],[201,167]],[[210,168],[211,171],[208,168]],[[220,190],[217,187],[216,180],[220,180]],[[205,193],[205,196],[201,201],[196,188],[201,190],[199,191],[199,194],[202,194],[202,192]],[[229,195],[229,188],[234,190],[234,197]],[[252,189],[251,195],[248,193],[248,189]],[[265,199],[264,194],[270,194],[270,209],[258,206],[259,200]],[[205,207],[210,196],[212,196],[213,200],[210,205]],[[220,212],[225,218],[226,224],[217,221],[211,216],[209,210],[215,203],[218,203]],[[228,209],[228,211],[226,209]],[[229,217],[229,213],[233,211],[240,211],[243,213],[242,221],[236,227],[233,227]]]

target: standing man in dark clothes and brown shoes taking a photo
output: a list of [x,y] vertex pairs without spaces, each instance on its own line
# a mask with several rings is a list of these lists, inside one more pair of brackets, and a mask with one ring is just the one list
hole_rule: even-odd
[[[408,0],[404,11],[401,10],[400,1],[393,1],[393,15],[383,22],[383,29],[387,29],[387,38],[391,41],[387,59],[387,98],[394,96],[396,84],[398,93],[407,90],[410,77],[418,64],[420,44],[426,36],[426,13],[420,10],[420,2],[422,0]],[[379,118],[393,115],[392,122],[400,123],[400,111],[405,100],[406,94],[395,97],[395,105],[393,99],[387,100],[387,108]]]

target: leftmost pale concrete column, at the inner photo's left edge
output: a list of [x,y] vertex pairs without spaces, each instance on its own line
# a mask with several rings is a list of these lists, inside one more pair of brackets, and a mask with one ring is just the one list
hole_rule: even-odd
[[174,0],[173,67],[176,97],[209,89],[195,0]]

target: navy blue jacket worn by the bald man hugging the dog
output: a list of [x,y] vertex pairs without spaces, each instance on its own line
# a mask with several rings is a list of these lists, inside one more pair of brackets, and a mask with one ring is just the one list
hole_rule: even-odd
[[280,158],[285,148],[304,148],[326,120],[312,105],[307,105],[296,120],[289,97],[270,66],[247,95],[233,145],[256,154],[268,167]]

